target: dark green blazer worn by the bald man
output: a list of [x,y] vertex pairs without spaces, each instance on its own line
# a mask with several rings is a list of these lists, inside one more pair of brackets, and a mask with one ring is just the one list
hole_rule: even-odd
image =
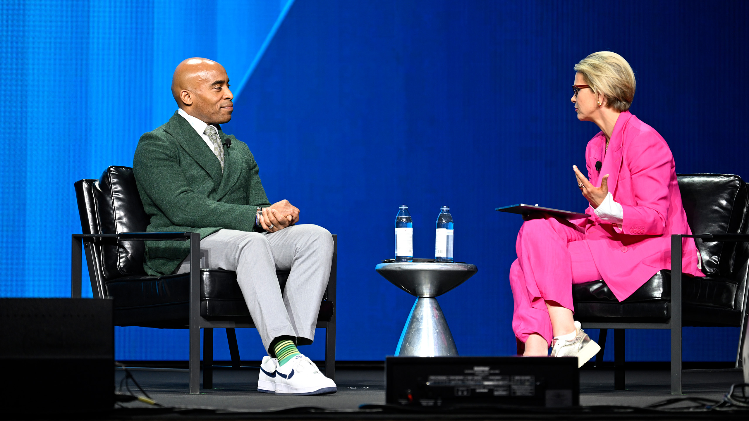
[[[226,135],[219,127],[219,136]],[[262,231],[255,227],[258,206],[270,206],[258,175],[258,164],[246,143],[234,136],[224,148],[224,170],[216,155],[181,115],[141,136],[133,173],[145,213],[147,231],[199,232],[219,229]],[[189,254],[187,241],[146,241],[146,273],[173,273]]]

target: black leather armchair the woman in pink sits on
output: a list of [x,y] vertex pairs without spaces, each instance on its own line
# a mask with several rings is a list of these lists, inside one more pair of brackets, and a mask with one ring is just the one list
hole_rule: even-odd
[[[622,302],[599,280],[573,285],[574,317],[583,328],[614,330],[614,389],[625,389],[625,329],[671,330],[671,393],[682,393],[682,326],[734,326],[745,334],[749,240],[747,187],[738,175],[678,175],[693,235],[672,235],[672,270],[655,273]],[[704,233],[704,234],[703,234]],[[695,237],[706,276],[682,276],[682,237]],[[676,276],[672,276],[676,273]],[[736,368],[741,364],[739,340]]]

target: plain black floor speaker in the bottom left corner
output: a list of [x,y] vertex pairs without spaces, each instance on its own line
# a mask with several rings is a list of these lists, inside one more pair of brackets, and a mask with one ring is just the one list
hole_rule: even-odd
[[0,298],[0,408],[5,414],[111,411],[109,299]]

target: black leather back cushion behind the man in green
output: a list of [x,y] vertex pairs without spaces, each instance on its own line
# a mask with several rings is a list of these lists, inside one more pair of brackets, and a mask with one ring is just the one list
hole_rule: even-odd
[[[142,232],[148,226],[148,215],[136,186],[133,169],[127,166],[110,166],[94,189],[99,226],[102,234]],[[115,241],[105,238],[102,247],[104,277],[145,275],[143,241]]]

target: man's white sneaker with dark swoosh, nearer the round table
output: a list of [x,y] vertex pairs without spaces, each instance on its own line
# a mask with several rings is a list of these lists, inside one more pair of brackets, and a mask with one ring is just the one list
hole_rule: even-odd
[[323,395],[337,391],[336,383],[303,354],[276,367],[276,395]]

